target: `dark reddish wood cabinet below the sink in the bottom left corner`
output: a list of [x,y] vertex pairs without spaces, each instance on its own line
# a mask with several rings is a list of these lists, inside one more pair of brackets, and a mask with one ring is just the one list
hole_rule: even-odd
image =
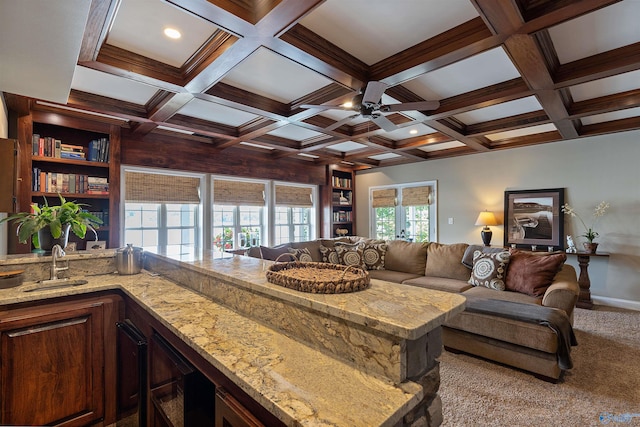
[[115,323],[121,298],[0,311],[0,424],[115,421]]

